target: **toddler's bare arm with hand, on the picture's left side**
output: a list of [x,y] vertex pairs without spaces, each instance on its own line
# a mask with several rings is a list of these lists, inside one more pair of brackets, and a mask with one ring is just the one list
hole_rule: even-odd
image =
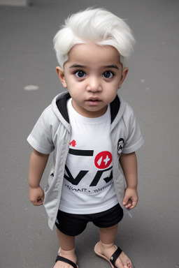
[[29,200],[34,206],[43,204],[44,192],[40,186],[41,177],[48,162],[49,154],[41,154],[35,149],[31,152],[29,162]]

